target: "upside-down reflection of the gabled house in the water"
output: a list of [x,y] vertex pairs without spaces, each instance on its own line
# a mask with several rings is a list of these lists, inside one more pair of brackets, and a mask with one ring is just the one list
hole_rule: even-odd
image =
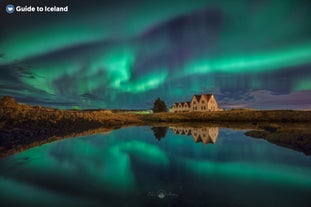
[[218,127],[170,127],[175,134],[192,136],[195,142],[216,143],[218,137]]

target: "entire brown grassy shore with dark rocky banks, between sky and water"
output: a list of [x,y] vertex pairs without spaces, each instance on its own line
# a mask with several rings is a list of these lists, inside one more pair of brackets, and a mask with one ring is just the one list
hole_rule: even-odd
[[[59,110],[0,98],[0,155],[33,146],[128,126],[222,127],[251,130],[247,136],[311,154],[311,111],[230,110],[137,114],[110,110]],[[287,134],[287,135],[286,135]],[[291,135],[295,136],[292,137]],[[286,135],[286,138],[283,138]],[[292,137],[292,138],[291,138]],[[301,141],[303,140],[303,141]],[[306,146],[306,147],[305,147]],[[0,156],[3,157],[3,156]]]

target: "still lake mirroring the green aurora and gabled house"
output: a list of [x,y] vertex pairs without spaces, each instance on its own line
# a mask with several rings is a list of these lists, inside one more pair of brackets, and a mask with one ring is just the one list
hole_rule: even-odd
[[311,156],[216,127],[128,127],[0,160],[0,206],[311,206]]

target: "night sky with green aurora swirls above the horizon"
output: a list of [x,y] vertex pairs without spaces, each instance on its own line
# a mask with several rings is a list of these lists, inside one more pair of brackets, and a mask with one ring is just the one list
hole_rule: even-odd
[[[217,3],[216,3],[217,2]],[[311,1],[6,1],[0,96],[57,108],[150,109],[214,93],[222,108],[311,108]]]

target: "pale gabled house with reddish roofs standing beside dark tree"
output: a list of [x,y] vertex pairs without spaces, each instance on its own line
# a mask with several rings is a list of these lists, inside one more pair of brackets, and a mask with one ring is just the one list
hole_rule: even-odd
[[190,102],[174,103],[169,112],[219,111],[213,94],[194,95]]

